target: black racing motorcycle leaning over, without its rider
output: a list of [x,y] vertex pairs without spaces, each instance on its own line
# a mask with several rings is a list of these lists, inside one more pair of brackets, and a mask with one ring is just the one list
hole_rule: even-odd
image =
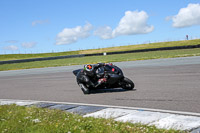
[[[81,71],[83,71],[83,69],[74,70],[73,74],[77,77]],[[77,84],[80,86],[84,94],[90,94],[91,90],[102,88],[122,88],[125,90],[133,90],[135,87],[133,81],[126,78],[122,70],[113,64],[106,64],[102,67],[99,67],[96,69],[95,73],[97,76],[103,75],[103,77],[107,79],[106,82],[97,87],[92,87],[86,82],[80,82],[80,80],[77,78]]]

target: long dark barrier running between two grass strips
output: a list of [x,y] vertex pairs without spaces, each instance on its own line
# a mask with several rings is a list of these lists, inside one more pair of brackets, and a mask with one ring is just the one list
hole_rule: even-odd
[[175,46],[175,47],[163,47],[163,48],[151,48],[151,49],[139,49],[139,50],[119,51],[119,52],[107,52],[107,53],[95,53],[95,54],[78,54],[78,55],[66,55],[66,56],[55,56],[55,57],[44,57],[44,58],[31,58],[31,59],[21,59],[21,60],[8,60],[8,61],[0,61],[0,65],[2,65],[2,64],[12,64],[12,63],[32,62],[32,61],[44,61],[44,60],[56,60],[56,59],[65,59],[65,58],[77,58],[77,57],[86,57],[86,56],[101,56],[101,55],[126,54],[126,53],[176,50],[176,49],[192,49],[192,48],[200,48],[200,44],[198,44],[198,45],[187,45],[187,46]]

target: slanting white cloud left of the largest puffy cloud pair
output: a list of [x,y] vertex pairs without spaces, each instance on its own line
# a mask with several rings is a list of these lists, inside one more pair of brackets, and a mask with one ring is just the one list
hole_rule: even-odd
[[90,36],[91,30],[92,25],[90,23],[86,23],[83,27],[65,28],[62,32],[58,33],[56,45],[71,44],[77,42],[79,39],[87,38]]

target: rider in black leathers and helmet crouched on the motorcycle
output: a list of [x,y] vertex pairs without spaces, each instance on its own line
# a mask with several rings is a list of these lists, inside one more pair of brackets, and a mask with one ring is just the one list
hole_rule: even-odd
[[[104,73],[98,72],[97,69],[108,64],[109,63],[98,63],[84,65],[84,69],[77,75],[77,80],[86,83],[86,85],[88,85],[86,87],[97,87],[105,83],[107,78],[104,77]],[[112,64],[110,63],[109,65]]]

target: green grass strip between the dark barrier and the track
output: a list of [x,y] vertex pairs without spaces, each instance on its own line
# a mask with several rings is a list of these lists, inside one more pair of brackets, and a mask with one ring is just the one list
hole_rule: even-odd
[[98,63],[98,62],[120,62],[120,61],[159,59],[159,58],[186,57],[186,56],[200,56],[200,48],[151,51],[151,52],[117,54],[117,55],[107,55],[107,56],[89,56],[89,57],[68,58],[68,59],[58,59],[49,61],[4,64],[0,65],[0,71],[81,65],[87,63]]

